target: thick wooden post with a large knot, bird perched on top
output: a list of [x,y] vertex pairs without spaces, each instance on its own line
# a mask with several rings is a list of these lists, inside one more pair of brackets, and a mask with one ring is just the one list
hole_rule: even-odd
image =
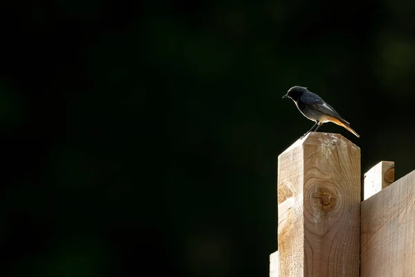
[[279,276],[359,275],[360,148],[311,132],[278,157]]

